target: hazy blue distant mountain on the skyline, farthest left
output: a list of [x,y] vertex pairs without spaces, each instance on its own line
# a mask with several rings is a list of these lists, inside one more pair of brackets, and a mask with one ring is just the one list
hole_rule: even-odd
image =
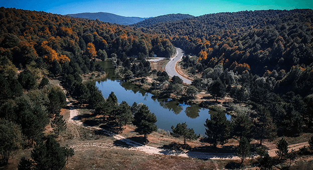
[[87,19],[99,19],[104,22],[117,23],[117,24],[122,24],[122,25],[134,24],[144,19],[147,19],[147,17],[121,16],[121,15],[108,13],[108,12],[96,12],[96,13],[85,12],[85,13],[75,13],[75,14],[67,14],[67,15],[72,16],[72,17],[80,17],[80,18],[87,18]]

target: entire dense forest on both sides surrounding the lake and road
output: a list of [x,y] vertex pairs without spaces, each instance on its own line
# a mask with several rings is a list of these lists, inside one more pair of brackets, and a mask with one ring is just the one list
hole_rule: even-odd
[[[196,55],[187,54],[182,60],[190,74],[198,74],[186,88],[189,98],[205,90],[216,102],[226,94],[233,99],[232,104],[225,103],[233,113],[232,119],[227,120],[225,111],[216,108],[218,112],[206,121],[204,141],[216,146],[233,137],[240,138],[240,142],[259,139],[261,143],[276,136],[311,132],[312,19],[311,9],[260,10],[207,14],[147,23],[146,27],[138,28],[1,7],[0,131],[5,136],[1,142],[12,139],[12,143],[1,149],[10,153],[36,141],[32,158],[38,168],[45,159],[38,158],[40,149],[48,149],[50,145],[58,147],[62,157],[71,155],[67,153],[70,149],[61,148],[54,138],[42,140],[49,122],[56,135],[66,128],[60,115],[66,96],[48,78],[59,78],[71,96],[81,104],[89,102],[96,113],[114,115],[120,126],[126,124],[132,117],[132,108],[127,103],[118,105],[113,92],[104,99],[94,84],[82,83],[81,74],[103,72],[100,65],[94,64],[96,58],[112,60],[118,66],[115,71],[124,79],[153,74],[153,88],[164,87],[166,92],[182,94],[180,78],[169,80],[166,72],[151,70],[145,59],[154,54],[171,57],[175,53],[173,44]],[[144,83],[144,78],[141,81]],[[168,84],[161,85],[165,82]],[[132,107],[137,108],[137,104]],[[147,107],[140,109],[134,118],[150,117],[150,131],[155,131],[156,118]],[[127,115],[121,114],[122,110],[128,110]],[[146,123],[133,123],[139,134],[146,136],[150,132],[142,130]],[[183,127],[187,125],[173,126],[173,132],[177,133],[174,135],[183,135],[178,132]],[[45,156],[54,154],[47,152]],[[3,154],[7,163],[9,155]]]

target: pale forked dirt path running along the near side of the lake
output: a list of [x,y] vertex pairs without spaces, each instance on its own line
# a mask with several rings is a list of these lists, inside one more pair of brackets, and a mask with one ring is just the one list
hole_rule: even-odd
[[[163,149],[163,148],[157,148],[153,146],[148,146],[144,145],[138,142],[135,142],[133,140],[130,140],[128,138],[125,138],[119,134],[115,134],[111,131],[107,131],[105,129],[102,129],[100,127],[95,127],[95,126],[89,126],[87,124],[84,124],[78,119],[78,111],[75,109],[75,107],[72,105],[72,103],[66,98],[68,102],[68,106],[70,108],[70,117],[68,119],[69,123],[82,126],[91,130],[101,130],[104,134],[109,135],[114,137],[117,140],[120,140],[127,145],[128,147],[123,147],[123,146],[116,146],[111,143],[98,143],[98,142],[85,142],[85,143],[79,143],[72,145],[74,149],[78,150],[83,150],[84,148],[92,147],[92,146],[97,146],[97,147],[105,147],[105,148],[116,148],[116,149],[127,149],[127,150],[137,150],[137,151],[142,151],[148,154],[165,154],[165,155],[176,155],[176,156],[183,156],[183,157],[195,157],[195,158],[201,158],[201,159],[232,159],[232,160],[239,160],[240,157],[235,156],[233,153],[208,153],[208,152],[198,152],[198,151],[178,151],[178,150],[170,150],[170,149]],[[75,128],[75,133],[74,136],[79,136],[79,132]],[[303,142],[303,143],[297,143],[297,144],[292,144],[289,145],[289,150],[293,148],[294,150],[298,150],[299,148],[303,146],[307,146],[308,142]],[[269,150],[269,155],[270,156],[275,156],[275,151],[277,149],[271,149]],[[255,157],[254,155],[253,157]]]

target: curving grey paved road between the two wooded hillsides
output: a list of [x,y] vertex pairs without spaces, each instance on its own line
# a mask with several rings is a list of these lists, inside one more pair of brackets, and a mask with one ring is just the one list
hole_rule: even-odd
[[174,75],[179,76],[180,78],[183,79],[183,81],[187,84],[191,84],[191,80],[183,77],[182,75],[180,75],[176,69],[176,63],[182,59],[183,57],[183,50],[181,48],[176,48],[176,55],[175,57],[172,57],[171,60],[168,62],[168,64],[165,66],[165,70],[167,71],[167,73],[169,74],[169,76],[173,77]]

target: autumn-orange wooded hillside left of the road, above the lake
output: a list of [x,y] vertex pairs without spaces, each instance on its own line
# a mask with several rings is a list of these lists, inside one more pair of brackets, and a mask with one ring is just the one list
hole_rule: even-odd
[[4,7],[0,20],[2,74],[31,63],[36,73],[81,74],[92,69],[92,58],[170,57],[175,52],[169,39],[99,20]]

